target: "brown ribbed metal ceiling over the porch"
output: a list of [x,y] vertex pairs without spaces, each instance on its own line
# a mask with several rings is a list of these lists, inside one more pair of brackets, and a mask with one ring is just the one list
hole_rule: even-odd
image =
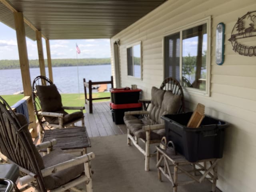
[[[111,38],[165,0],[4,0],[48,39]],[[12,11],[0,3],[0,21],[15,28]],[[26,36],[36,40],[25,24]]]

